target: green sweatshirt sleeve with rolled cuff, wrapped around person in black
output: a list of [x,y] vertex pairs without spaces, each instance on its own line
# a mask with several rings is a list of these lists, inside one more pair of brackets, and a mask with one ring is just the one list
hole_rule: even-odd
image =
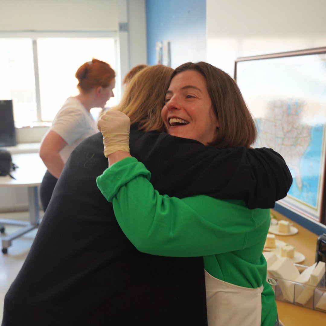
[[141,252],[190,257],[241,250],[247,232],[257,227],[256,210],[241,201],[160,195],[149,179],[150,172],[134,157],[113,164],[96,179],[112,201],[121,229]]

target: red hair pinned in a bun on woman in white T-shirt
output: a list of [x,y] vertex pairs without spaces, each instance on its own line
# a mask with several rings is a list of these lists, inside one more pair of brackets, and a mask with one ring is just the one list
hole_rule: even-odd
[[108,63],[93,58],[78,68],[75,77],[78,79],[78,90],[88,93],[97,86],[108,87],[115,72]]

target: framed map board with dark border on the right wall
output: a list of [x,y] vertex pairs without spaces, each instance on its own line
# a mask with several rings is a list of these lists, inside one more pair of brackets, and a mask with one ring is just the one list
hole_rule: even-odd
[[234,79],[256,120],[255,147],[273,148],[292,173],[277,203],[325,223],[326,47],[238,58]]

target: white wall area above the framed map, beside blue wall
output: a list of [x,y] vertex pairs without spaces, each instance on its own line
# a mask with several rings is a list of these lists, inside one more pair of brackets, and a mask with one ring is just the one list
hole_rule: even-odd
[[206,2],[207,61],[234,75],[238,57],[326,46],[325,0]]

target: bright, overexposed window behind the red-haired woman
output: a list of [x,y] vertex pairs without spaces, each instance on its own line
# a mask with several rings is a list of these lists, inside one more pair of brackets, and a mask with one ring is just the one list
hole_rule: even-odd
[[[16,127],[50,124],[67,97],[78,94],[75,73],[84,62],[96,58],[117,71],[115,37],[71,34],[0,38],[0,99],[13,100]],[[107,106],[118,103],[120,92]],[[98,111],[92,109],[94,117]]]

